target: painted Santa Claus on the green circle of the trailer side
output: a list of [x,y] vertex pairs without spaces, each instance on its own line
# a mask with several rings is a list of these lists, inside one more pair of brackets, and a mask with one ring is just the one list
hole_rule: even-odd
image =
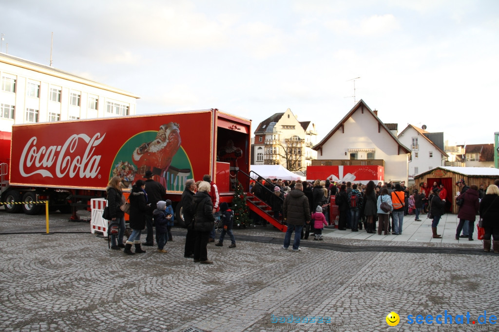
[[170,122],[160,126],[155,140],[143,143],[133,152],[133,161],[138,167],[139,174],[144,175],[146,171],[153,172],[153,180],[166,188],[165,174],[180,143],[178,123]]

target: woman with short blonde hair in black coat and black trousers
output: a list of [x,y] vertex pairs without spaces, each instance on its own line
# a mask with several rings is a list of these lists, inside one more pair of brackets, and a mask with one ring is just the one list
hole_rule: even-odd
[[202,264],[212,264],[208,260],[208,238],[215,223],[213,217],[213,203],[210,197],[211,185],[209,182],[202,181],[198,186],[198,192],[194,195],[193,214],[194,231],[196,239],[194,240],[194,262]]

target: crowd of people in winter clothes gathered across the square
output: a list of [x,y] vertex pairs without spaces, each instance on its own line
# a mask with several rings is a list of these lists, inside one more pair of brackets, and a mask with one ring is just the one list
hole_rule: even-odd
[[[153,225],[156,226],[156,242],[158,252],[166,253],[164,249],[168,241],[172,241],[171,227],[174,222],[172,202],[164,199],[166,190],[152,180],[150,171],[145,174],[146,180],[138,180],[134,184],[130,200],[130,227],[132,232],[125,244],[123,236],[125,230],[124,213],[120,207],[125,202],[118,176],[111,178],[107,187],[107,200],[110,210],[110,219],[118,223],[118,234],[111,236],[111,248],[124,248],[125,254],[144,253],[141,247],[140,236],[147,227],[146,242],[142,245],[153,246]],[[456,204],[460,207],[458,213],[459,224],[456,230],[456,239],[468,237],[473,240],[474,222],[476,216],[482,218],[484,235],[484,250],[491,250],[491,238],[494,252],[499,252],[499,180],[487,188],[477,185],[467,186],[464,179],[456,183],[459,186]],[[217,185],[210,175],[205,175],[203,181],[186,181],[181,198],[184,221],[187,226],[184,257],[192,258],[194,262],[211,264],[208,259],[207,245],[215,241],[215,221],[223,220],[223,230],[217,246],[223,246],[225,235],[231,239],[230,248],[236,247],[236,240],[232,231],[234,212],[227,203],[220,204]],[[293,250],[299,251],[299,242],[308,239],[310,234],[314,240],[322,240],[324,225],[337,222],[338,229],[359,231],[364,229],[368,233],[400,235],[403,231],[404,216],[415,215],[415,221],[421,221],[420,215],[429,213],[432,219],[434,238],[440,238],[437,233],[441,217],[448,211],[450,202],[447,198],[447,189],[443,184],[433,184],[429,188],[422,183],[419,190],[405,186],[404,181],[392,183],[378,182],[376,185],[369,181],[361,183],[334,183],[329,180],[321,181],[283,181],[280,179],[266,179],[258,177],[250,187],[250,192],[263,202],[267,203],[273,212],[273,217],[286,222],[287,232],[284,238],[283,249],[287,249],[290,238],[295,231]],[[337,220],[329,220],[331,198],[338,206]],[[391,218],[390,218],[391,217]],[[391,219],[391,222],[390,222]],[[266,226],[267,222],[258,215],[253,215],[255,224]],[[377,226],[377,231],[376,231]],[[461,235],[461,232],[463,234]],[[135,251],[132,252],[132,246]]]

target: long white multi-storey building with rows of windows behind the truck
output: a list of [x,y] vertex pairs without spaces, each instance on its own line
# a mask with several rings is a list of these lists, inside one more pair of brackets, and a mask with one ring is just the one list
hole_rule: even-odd
[[0,53],[0,131],[12,124],[133,115],[138,96]]

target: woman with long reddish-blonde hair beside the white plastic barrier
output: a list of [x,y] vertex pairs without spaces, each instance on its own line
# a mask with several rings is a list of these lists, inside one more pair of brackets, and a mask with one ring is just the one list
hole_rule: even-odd
[[[111,249],[116,250],[121,250],[120,248],[125,247],[123,244],[123,235],[125,234],[125,213],[120,209],[120,206],[125,203],[125,200],[120,184],[121,178],[119,176],[113,176],[106,187],[110,220],[118,222],[118,235],[111,235]],[[118,243],[116,243],[116,239]]]

